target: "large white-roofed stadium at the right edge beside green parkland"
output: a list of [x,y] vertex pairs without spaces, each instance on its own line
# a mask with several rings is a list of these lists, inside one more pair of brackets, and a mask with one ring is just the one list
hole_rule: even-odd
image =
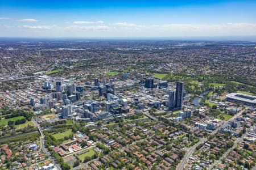
[[240,102],[245,105],[255,106],[256,96],[240,93],[231,93],[226,95],[226,101]]

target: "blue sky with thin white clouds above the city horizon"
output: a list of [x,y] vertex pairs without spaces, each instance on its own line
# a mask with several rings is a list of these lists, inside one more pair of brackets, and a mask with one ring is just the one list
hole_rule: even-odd
[[4,1],[0,37],[256,36],[256,1]]

